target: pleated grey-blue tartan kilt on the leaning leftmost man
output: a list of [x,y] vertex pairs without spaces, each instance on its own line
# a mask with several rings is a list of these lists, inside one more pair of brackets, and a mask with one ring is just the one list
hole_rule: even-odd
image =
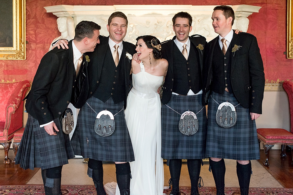
[[15,157],[15,164],[23,169],[49,169],[68,164],[74,158],[69,135],[63,133],[60,119],[54,120],[59,132],[49,135],[37,119],[28,114],[27,124]]

